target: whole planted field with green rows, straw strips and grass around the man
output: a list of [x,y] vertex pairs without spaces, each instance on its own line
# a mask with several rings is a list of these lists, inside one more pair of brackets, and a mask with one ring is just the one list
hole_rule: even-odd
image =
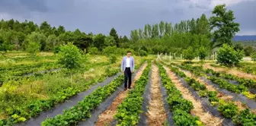
[[[34,62],[27,58],[17,61],[19,64],[16,61],[6,64],[5,61],[15,57],[9,55],[1,65],[3,68],[8,68],[8,65],[17,68],[3,70],[12,72],[0,87],[2,125],[217,126],[255,123],[254,75],[241,77],[239,75],[244,71],[236,68],[220,71],[223,67],[214,61],[187,64],[183,60],[158,61],[154,55],[135,56],[138,61],[133,88],[123,91],[123,74],[117,74],[120,61],[111,64],[104,55],[88,55],[85,71],[74,73],[72,80],[57,64],[56,55],[51,53],[40,55]],[[30,76],[12,74],[24,65],[37,72],[35,68],[38,67],[31,66],[45,64],[45,61],[54,64],[48,69],[57,68],[59,71]],[[40,70],[46,69],[42,67]],[[113,75],[114,78],[98,86],[97,83],[105,82]],[[82,93],[88,94],[74,99]],[[67,106],[66,100],[76,103],[62,107]]]

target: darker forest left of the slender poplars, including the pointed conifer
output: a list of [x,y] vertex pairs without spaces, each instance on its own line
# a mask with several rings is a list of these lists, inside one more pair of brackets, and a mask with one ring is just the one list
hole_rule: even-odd
[[[72,42],[82,50],[97,48],[102,51],[107,46],[120,47],[120,43],[129,42],[126,36],[118,36],[112,28],[110,34],[84,33],[78,29],[68,31],[63,26],[52,27],[46,21],[37,25],[33,21],[19,22],[18,20],[0,21],[0,51],[25,51],[32,45],[40,46],[39,51],[53,51],[63,44]],[[36,44],[35,44],[36,43]]]

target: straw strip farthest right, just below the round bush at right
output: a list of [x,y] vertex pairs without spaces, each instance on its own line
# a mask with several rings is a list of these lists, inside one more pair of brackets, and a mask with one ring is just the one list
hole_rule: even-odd
[[244,78],[247,78],[247,79],[256,80],[256,76],[255,75],[247,74],[247,73],[245,73],[243,71],[238,71],[235,68],[213,67],[209,63],[204,64],[203,68],[210,68],[210,69],[213,69],[213,71],[223,71],[223,72],[226,72],[227,74],[232,74],[232,75],[235,75],[237,77],[244,77]]

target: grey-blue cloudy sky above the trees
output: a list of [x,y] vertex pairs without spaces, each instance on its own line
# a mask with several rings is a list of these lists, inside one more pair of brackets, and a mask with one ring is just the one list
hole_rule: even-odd
[[178,23],[206,14],[225,3],[240,24],[238,35],[256,35],[256,0],[0,0],[0,18],[46,20],[66,30],[108,34],[114,27],[120,35],[157,24],[161,20]]

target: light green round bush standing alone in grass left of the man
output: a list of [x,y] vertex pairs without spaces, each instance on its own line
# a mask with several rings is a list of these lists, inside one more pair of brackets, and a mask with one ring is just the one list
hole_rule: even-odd
[[75,69],[81,66],[82,54],[72,43],[61,46],[59,50],[59,64],[67,69]]

